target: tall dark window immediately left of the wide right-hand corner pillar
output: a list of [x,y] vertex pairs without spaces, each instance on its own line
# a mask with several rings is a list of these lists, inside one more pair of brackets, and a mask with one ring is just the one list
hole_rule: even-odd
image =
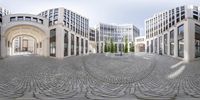
[[178,27],[178,56],[184,57],[184,25]]

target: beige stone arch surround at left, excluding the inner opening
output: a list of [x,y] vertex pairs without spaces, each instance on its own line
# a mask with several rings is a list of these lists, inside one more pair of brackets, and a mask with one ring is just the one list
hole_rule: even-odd
[[34,39],[34,54],[48,56],[48,36],[40,28],[32,25],[17,25],[8,28],[3,36],[5,45],[3,47],[3,57],[13,55],[13,40],[18,36],[29,36]]

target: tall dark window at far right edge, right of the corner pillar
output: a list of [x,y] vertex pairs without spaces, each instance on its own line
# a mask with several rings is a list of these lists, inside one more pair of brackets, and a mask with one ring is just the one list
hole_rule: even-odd
[[200,25],[195,24],[195,58],[200,57]]

